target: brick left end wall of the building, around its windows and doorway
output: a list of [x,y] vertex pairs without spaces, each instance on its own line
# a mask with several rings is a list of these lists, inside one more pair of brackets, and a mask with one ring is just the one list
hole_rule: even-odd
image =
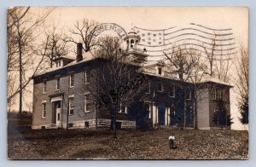
[[[32,128],[50,127],[53,121],[53,105],[50,95],[63,94],[61,101],[61,127],[66,128],[68,98],[73,96],[74,113],[68,116],[68,123],[96,119],[96,107],[91,105],[90,112],[84,112],[84,71],[74,74],[74,87],[69,88],[69,75],[60,77],[60,90],[55,91],[55,78],[47,80],[47,91],[43,94],[43,83],[34,83]],[[42,101],[46,101],[46,118],[42,118]]]

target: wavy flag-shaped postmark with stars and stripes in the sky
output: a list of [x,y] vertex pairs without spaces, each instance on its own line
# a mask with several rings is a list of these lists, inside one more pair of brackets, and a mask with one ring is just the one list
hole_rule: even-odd
[[237,53],[236,40],[231,28],[215,29],[190,23],[188,26],[172,26],[166,29],[149,30],[134,27],[141,37],[138,49],[147,49],[148,61],[166,60],[173,47],[195,49],[202,56],[210,53],[214,45],[214,55],[217,59],[230,59]]

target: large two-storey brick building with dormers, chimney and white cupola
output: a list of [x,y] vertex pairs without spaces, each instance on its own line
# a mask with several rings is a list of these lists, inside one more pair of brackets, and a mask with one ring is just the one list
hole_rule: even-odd
[[[183,126],[184,122],[186,127],[192,128],[197,119],[199,129],[211,129],[217,127],[212,122],[213,112],[224,108],[227,115],[230,114],[231,86],[228,83],[205,77],[196,83],[201,89],[195,95],[194,84],[179,81],[177,73],[168,72],[164,61],[147,62],[146,50],[137,49],[139,41],[136,32],[129,32],[123,54],[144,60],[137,63],[137,72],[151,79],[143,92],[143,101],[118,112],[118,128]],[[80,129],[110,126],[108,109],[97,107],[88,98],[90,92],[86,91],[90,71],[99,66],[90,52],[82,54],[81,43],[77,48],[76,59],[58,57],[55,66],[33,77],[32,129],[65,129],[67,123],[69,128]],[[199,96],[202,98],[195,101]]]

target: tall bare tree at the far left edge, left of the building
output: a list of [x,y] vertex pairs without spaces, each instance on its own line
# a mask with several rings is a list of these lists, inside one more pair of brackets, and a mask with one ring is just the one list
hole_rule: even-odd
[[[38,37],[38,33],[36,34],[35,30],[43,23],[52,10],[47,9],[44,14],[39,15],[36,19],[32,19],[29,7],[15,7],[8,10],[7,71],[9,88],[17,82],[12,76],[16,73],[19,74],[19,87],[8,89],[8,102],[12,101],[15,95],[19,94],[20,114],[22,112],[22,91],[30,83],[32,79],[30,77],[38,72],[39,66],[44,60],[44,57],[42,57],[36,63],[32,58],[35,48],[33,44],[35,44],[35,40]],[[34,64],[36,65],[31,66]]]

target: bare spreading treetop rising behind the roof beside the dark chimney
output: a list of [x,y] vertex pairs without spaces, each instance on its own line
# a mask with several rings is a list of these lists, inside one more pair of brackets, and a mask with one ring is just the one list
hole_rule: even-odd
[[73,29],[70,30],[70,32],[75,37],[79,37],[79,40],[69,36],[67,37],[67,42],[73,42],[78,44],[77,41],[80,41],[84,44],[84,52],[88,52],[92,47],[96,46],[95,35],[98,26],[99,24],[95,20],[84,19],[81,22],[77,21]]

